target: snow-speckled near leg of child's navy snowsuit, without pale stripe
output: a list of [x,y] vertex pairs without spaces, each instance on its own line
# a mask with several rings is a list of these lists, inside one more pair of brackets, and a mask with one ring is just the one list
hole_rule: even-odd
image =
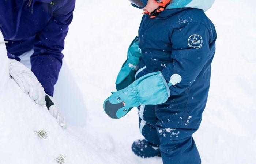
[[[186,112],[184,108],[173,108],[171,103],[167,101],[164,104],[155,105],[155,114],[158,118],[156,128],[163,163],[201,163],[199,152],[192,137],[198,127],[193,126],[191,128],[189,122],[192,120],[193,112],[188,110]],[[193,117],[195,116],[193,115]]]

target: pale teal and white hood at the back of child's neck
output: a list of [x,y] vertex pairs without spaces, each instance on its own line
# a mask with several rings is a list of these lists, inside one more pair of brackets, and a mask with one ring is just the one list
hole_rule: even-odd
[[215,0],[172,0],[166,9],[191,7],[207,11]]

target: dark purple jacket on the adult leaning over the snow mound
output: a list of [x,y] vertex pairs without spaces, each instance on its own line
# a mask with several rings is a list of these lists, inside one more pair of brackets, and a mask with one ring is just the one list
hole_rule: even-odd
[[34,49],[31,71],[53,96],[62,64],[64,39],[75,0],[0,1],[0,28],[8,41],[9,58]]

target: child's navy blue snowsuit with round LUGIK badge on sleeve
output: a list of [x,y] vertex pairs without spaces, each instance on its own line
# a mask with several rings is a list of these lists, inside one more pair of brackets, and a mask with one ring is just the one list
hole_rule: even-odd
[[163,163],[201,162],[192,134],[206,106],[216,37],[214,25],[201,9],[166,9],[154,19],[142,18],[143,59],[136,79],[157,71],[167,82],[174,73],[182,77],[181,83],[170,87],[166,103],[139,107],[140,130],[160,146]]

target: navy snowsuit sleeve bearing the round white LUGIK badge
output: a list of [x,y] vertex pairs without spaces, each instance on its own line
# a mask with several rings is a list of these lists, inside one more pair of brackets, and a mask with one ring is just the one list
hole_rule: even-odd
[[162,70],[162,74],[167,82],[175,73],[181,75],[182,81],[170,87],[171,95],[178,95],[189,88],[212,57],[209,38],[208,29],[200,23],[189,23],[172,33],[173,62]]

